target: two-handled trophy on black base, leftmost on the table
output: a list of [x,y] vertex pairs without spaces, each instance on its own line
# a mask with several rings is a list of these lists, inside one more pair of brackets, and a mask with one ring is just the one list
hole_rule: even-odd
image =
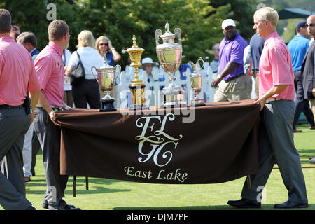
[[[105,92],[105,96],[101,99],[102,107],[99,109],[101,112],[106,111],[117,111],[113,102],[115,99],[111,97],[111,90],[113,90],[113,85],[116,83],[116,79],[118,78],[121,72],[121,66],[117,64],[115,67],[107,64],[106,62],[106,53],[104,52],[104,64],[100,68],[96,68],[92,66],[91,71],[93,68],[97,71],[97,81],[99,83],[99,88]],[[117,77],[115,78],[115,72],[118,71]],[[92,71],[93,73],[93,71]]]

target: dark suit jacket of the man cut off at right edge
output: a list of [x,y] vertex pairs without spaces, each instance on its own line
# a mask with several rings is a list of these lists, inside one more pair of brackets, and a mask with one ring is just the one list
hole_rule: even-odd
[[315,41],[309,46],[302,64],[304,99],[314,99],[312,90],[315,87]]

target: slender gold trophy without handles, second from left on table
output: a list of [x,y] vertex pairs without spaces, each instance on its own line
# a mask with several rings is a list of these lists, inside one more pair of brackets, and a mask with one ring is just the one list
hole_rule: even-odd
[[144,52],[144,48],[139,48],[136,42],[136,36],[133,36],[132,48],[128,48],[126,51],[130,55],[131,64],[130,66],[134,67],[134,80],[132,80],[129,88],[131,92],[132,105],[130,106],[130,110],[144,110],[148,109],[146,105],[146,94],[145,87],[142,80],[139,79],[138,76],[138,68],[141,66],[141,55]]

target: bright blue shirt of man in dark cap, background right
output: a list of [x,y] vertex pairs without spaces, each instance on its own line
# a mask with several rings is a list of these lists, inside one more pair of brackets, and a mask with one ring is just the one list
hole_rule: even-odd
[[309,39],[302,35],[295,35],[288,43],[288,50],[290,50],[292,56],[293,71],[302,69],[302,63],[307,49],[309,49]]

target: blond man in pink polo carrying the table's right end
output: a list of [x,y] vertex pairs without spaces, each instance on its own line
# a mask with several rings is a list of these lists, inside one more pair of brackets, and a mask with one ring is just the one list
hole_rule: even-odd
[[241,200],[228,204],[239,208],[261,206],[261,191],[276,162],[288,190],[288,200],[276,209],[308,207],[300,155],[293,141],[295,113],[294,75],[291,55],[276,33],[279,15],[273,8],[260,8],[254,14],[254,29],[265,38],[259,62],[260,129],[258,132],[259,172],[251,175],[251,189],[244,183]]

